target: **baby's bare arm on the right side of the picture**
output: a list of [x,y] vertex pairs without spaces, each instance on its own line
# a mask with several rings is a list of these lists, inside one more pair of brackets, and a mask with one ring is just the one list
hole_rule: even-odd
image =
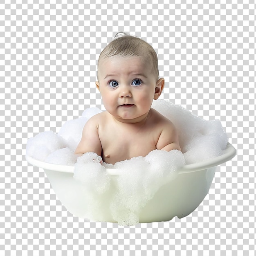
[[181,151],[178,132],[171,122],[164,124],[156,148],[165,151],[171,151],[173,149]]

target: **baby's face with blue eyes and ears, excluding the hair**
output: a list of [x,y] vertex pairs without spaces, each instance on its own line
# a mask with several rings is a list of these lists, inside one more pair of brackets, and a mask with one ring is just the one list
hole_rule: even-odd
[[123,122],[143,120],[164,84],[164,79],[156,79],[151,63],[138,56],[102,59],[98,73],[96,85],[106,110]]

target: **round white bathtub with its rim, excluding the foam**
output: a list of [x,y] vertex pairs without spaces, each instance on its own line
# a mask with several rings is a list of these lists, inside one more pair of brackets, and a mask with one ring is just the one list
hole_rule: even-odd
[[[168,221],[175,216],[183,218],[189,215],[209,192],[217,166],[232,159],[235,155],[236,149],[231,144],[227,144],[221,156],[182,167],[177,177],[162,186],[141,209],[139,222]],[[74,216],[86,218],[83,186],[73,178],[74,166],[49,164],[29,156],[26,156],[26,159],[30,164],[44,169],[58,199],[68,211]],[[112,177],[112,188],[109,191],[112,194],[116,192],[115,176],[118,175],[118,170],[107,169],[107,172]],[[110,199],[106,195],[103,221],[115,222],[108,200]]]

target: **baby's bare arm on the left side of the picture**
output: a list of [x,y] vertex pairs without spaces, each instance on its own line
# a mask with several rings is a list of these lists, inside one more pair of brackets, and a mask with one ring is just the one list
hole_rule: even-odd
[[98,122],[97,117],[94,116],[86,122],[83,128],[81,141],[75,150],[75,154],[94,152],[101,156],[101,151],[102,148],[98,134]]

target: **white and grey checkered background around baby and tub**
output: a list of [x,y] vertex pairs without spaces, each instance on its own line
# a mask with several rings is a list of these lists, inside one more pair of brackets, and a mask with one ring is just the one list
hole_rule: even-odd
[[[0,3],[0,255],[255,256],[254,0],[84,2]],[[97,58],[118,31],[155,48],[162,99],[220,119],[237,149],[185,218],[87,222],[25,160],[29,137],[102,108]]]

